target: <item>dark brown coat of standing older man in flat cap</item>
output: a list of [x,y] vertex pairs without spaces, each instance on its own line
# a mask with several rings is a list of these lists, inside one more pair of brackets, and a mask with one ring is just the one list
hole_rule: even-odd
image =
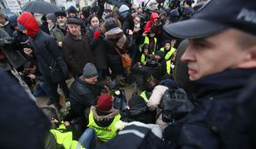
[[66,64],[74,76],[80,76],[85,65],[93,63],[93,55],[85,35],[81,35],[80,39],[75,39],[70,32],[67,33],[63,40],[62,51]]

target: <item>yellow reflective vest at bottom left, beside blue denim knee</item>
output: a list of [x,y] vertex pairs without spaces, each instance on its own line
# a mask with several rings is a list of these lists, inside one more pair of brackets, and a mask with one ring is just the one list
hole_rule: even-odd
[[85,147],[81,146],[80,142],[72,140],[72,132],[62,132],[62,130],[66,130],[64,123],[57,129],[50,130],[55,137],[57,144],[61,144],[65,149],[85,149]]

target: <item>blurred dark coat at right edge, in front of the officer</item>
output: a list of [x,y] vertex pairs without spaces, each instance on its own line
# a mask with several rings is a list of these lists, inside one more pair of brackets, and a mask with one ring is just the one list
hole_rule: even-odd
[[240,144],[244,145],[244,148],[255,148],[255,134],[256,134],[256,118],[254,113],[256,113],[256,100],[255,100],[255,90],[256,90],[256,75],[249,79],[249,84],[236,99],[236,107],[234,108],[234,131],[238,132]]

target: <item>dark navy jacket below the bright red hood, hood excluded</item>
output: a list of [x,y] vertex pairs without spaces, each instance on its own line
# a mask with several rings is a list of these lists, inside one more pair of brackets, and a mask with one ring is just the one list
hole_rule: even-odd
[[69,74],[62,52],[52,36],[39,30],[33,38],[29,38],[33,46],[33,55],[37,59],[37,65],[43,76],[50,77],[49,66],[58,65],[64,76]]

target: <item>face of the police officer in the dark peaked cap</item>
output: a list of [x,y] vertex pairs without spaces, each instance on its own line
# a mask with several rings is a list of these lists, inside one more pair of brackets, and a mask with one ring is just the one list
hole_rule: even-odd
[[239,31],[229,29],[214,36],[190,40],[181,56],[181,60],[188,63],[190,80],[238,68],[248,55],[248,50],[239,46],[238,36]]

